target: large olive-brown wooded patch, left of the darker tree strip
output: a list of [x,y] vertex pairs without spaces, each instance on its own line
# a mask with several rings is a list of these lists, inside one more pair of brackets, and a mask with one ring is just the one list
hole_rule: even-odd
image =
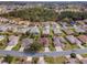
[[19,11],[15,10],[2,15],[21,18],[23,20],[30,20],[34,22],[55,21],[57,18],[57,13],[54,10],[44,8],[29,8]]

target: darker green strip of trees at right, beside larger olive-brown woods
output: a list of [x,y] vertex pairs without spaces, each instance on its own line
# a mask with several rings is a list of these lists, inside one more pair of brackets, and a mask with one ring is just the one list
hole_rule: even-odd
[[65,18],[72,19],[74,21],[84,20],[84,19],[87,19],[87,12],[73,12],[73,11],[61,12],[61,14],[58,15],[58,19],[63,20]]

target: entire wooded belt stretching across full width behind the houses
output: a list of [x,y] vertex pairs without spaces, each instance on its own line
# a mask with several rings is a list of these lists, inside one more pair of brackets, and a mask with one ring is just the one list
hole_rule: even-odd
[[61,13],[55,12],[52,9],[44,8],[29,8],[23,10],[14,10],[9,13],[1,14],[2,17],[14,17],[21,18],[23,20],[30,20],[32,22],[45,22],[45,21],[58,21],[68,18],[70,20],[84,20],[87,19],[87,12],[74,12],[74,11],[63,11]]

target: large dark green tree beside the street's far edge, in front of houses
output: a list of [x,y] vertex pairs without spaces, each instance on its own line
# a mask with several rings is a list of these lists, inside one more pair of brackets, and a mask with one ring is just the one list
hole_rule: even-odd
[[43,45],[40,44],[39,42],[34,42],[32,44],[30,44],[30,46],[28,46],[26,48],[24,48],[24,52],[28,53],[28,52],[40,52],[42,50]]

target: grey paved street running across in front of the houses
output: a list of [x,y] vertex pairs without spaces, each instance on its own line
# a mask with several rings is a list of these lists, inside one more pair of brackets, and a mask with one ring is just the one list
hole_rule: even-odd
[[43,52],[43,53],[23,53],[18,51],[2,51],[0,50],[1,55],[12,55],[12,56],[32,56],[32,57],[40,57],[40,56],[64,56],[69,55],[70,53],[76,54],[84,54],[87,53],[87,48],[77,48],[73,51],[61,51],[61,52]]

